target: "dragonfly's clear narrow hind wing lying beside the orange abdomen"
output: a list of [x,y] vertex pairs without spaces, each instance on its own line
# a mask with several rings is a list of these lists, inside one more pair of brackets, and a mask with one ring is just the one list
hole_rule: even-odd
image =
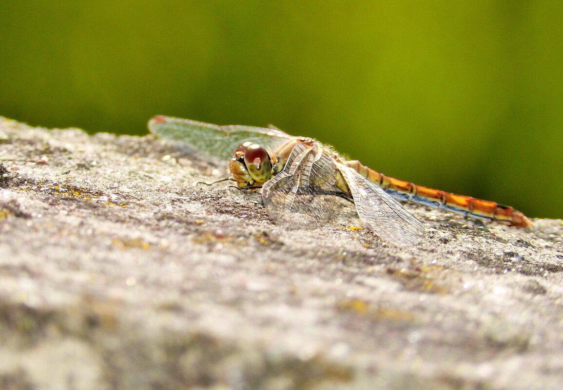
[[414,246],[421,241],[424,226],[395,199],[340,162],[337,168],[346,180],[360,219],[379,237],[399,246]]

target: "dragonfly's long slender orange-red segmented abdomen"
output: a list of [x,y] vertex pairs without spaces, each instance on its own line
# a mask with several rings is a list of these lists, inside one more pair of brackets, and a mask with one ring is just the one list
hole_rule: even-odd
[[419,203],[421,205],[456,212],[469,218],[526,228],[533,223],[520,211],[496,202],[483,201],[470,196],[456,195],[437,189],[422,187],[404,180],[399,180],[376,172],[359,161],[346,161],[346,165],[356,170],[370,182],[376,183],[385,192],[399,201]]

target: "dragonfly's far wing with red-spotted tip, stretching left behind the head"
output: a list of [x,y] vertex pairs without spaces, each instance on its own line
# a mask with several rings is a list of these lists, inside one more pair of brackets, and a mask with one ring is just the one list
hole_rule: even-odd
[[218,126],[171,116],[155,116],[149,121],[149,130],[159,137],[177,141],[189,152],[196,152],[213,161],[226,161],[243,143],[251,141],[274,151],[280,144],[292,139],[291,135],[273,126]]

